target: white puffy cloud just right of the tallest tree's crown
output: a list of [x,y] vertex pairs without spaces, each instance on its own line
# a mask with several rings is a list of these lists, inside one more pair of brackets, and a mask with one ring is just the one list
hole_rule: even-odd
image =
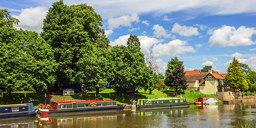
[[131,16],[123,15],[118,18],[111,17],[108,19],[108,29],[115,29],[123,26],[131,26],[132,22],[140,22],[140,17],[137,15],[137,13],[133,13]]

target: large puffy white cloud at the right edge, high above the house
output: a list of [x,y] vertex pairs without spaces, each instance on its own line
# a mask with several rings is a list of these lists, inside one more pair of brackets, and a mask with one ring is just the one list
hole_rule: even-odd
[[237,47],[256,44],[251,41],[252,35],[256,34],[255,28],[245,28],[240,26],[237,30],[233,26],[222,26],[220,29],[214,30],[209,38],[210,46],[218,47]]

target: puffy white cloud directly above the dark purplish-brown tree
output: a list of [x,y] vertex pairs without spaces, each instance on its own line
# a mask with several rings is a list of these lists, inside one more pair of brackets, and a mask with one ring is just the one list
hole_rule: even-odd
[[192,46],[187,46],[187,44],[186,41],[174,40],[170,41],[168,44],[155,44],[152,50],[155,57],[162,55],[175,56],[185,52],[195,53],[195,49]]

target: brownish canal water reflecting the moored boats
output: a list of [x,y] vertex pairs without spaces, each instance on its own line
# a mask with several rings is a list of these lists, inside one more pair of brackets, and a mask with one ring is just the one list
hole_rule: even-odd
[[0,128],[238,128],[253,119],[256,102],[1,119]]

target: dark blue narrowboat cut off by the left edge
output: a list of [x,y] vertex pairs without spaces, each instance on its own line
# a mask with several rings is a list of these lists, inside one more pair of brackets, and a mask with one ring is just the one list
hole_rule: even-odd
[[33,103],[0,105],[0,119],[35,116],[38,109],[34,109]]

